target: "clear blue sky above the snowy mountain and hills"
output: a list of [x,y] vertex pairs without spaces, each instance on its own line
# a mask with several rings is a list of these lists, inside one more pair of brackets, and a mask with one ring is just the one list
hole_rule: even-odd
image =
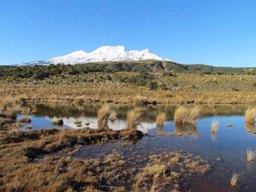
[[256,67],[255,0],[2,0],[0,65],[104,45],[180,63]]

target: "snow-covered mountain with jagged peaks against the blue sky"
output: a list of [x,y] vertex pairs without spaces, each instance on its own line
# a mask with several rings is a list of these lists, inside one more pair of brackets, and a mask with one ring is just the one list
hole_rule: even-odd
[[55,58],[50,58],[42,61],[33,61],[29,63],[17,64],[17,66],[26,66],[26,65],[49,65],[49,64],[82,64],[88,62],[101,62],[101,61],[138,61],[145,59],[156,59],[156,60],[166,60],[172,61],[171,59],[163,59],[149,49],[144,49],[142,51],[138,50],[129,50],[124,46],[103,46],[93,52],[87,53],[85,51],[76,51],[68,55],[59,56]]

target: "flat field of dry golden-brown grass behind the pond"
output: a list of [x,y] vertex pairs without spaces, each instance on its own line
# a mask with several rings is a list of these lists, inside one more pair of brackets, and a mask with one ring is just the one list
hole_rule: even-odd
[[[102,73],[89,73],[86,78],[95,79]],[[215,76],[198,74],[177,74],[175,77],[163,79],[160,73],[150,73],[154,76],[158,84],[166,81],[168,90],[148,90],[145,87],[134,86],[128,83],[116,84],[113,81],[93,81],[84,82],[84,76],[76,77],[79,81],[72,81],[73,77],[67,76],[59,79],[56,84],[47,84],[52,79],[45,79],[37,81],[33,84],[31,79],[24,81],[7,81],[7,79],[0,80],[0,98],[8,96],[16,97],[21,93],[26,96],[26,102],[58,102],[70,103],[74,102],[76,97],[84,96],[85,101],[89,99],[91,102],[104,102],[112,100],[113,102],[131,102],[136,95],[143,95],[148,98],[148,102],[164,102],[164,103],[188,103],[195,101],[195,103],[253,103],[256,100],[255,87],[247,82],[255,81],[253,75],[234,75],[234,76]],[[110,76],[136,76],[139,73],[132,72],[118,72],[111,73]],[[242,77],[242,79],[241,79]],[[218,84],[213,82],[217,79]],[[114,79],[114,78],[113,78]],[[173,90],[173,82],[179,84],[180,90]],[[236,83],[236,82],[239,82]],[[195,89],[192,85],[199,84],[200,86]],[[234,85],[236,84],[236,85]],[[72,91],[70,88],[72,87]],[[230,87],[236,87],[241,91],[232,93],[230,99]],[[169,97],[172,95],[173,97]],[[88,101],[89,101],[88,100]]]

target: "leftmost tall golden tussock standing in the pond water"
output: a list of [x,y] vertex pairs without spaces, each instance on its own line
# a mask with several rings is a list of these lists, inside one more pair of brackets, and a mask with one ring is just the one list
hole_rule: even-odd
[[106,128],[108,120],[114,121],[116,119],[116,113],[111,110],[110,106],[105,104],[100,108],[98,114],[98,128]]

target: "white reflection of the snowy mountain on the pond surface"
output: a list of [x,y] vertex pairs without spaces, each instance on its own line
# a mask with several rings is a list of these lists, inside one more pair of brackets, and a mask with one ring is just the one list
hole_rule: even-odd
[[[58,118],[53,117],[49,118],[50,121],[55,121]],[[90,127],[90,128],[97,128],[98,127],[98,122],[96,117],[64,117],[63,119],[63,126],[68,127],[68,128],[73,128],[73,129],[80,129],[80,128],[85,128],[85,127]],[[81,121],[81,126],[77,126],[74,122],[76,120]],[[90,123],[89,125],[85,125],[86,123]],[[113,129],[114,131],[121,130],[127,128],[127,121],[123,119],[116,119],[114,122],[108,122],[108,127]],[[143,133],[147,133],[150,129],[155,128],[156,125],[155,123],[150,123],[150,122],[140,122],[140,125],[137,125],[137,129],[142,131]]]

